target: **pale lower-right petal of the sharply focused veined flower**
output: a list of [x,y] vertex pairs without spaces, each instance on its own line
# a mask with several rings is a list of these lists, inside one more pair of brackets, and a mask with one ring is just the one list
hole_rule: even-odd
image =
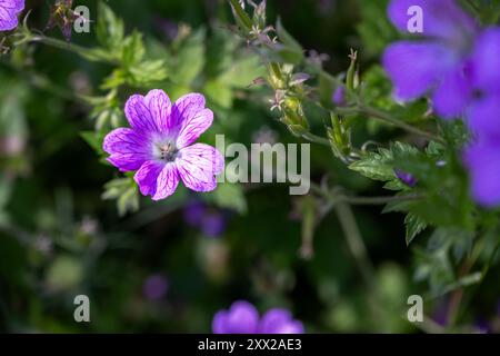
[[181,149],[176,162],[184,186],[194,191],[216,189],[214,176],[224,167],[222,155],[216,148],[204,144]]

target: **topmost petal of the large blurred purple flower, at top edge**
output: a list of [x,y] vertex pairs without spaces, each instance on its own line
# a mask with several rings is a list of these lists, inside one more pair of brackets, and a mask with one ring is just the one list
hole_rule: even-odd
[[414,16],[412,7],[422,10],[423,33],[418,34],[464,41],[478,29],[476,21],[454,0],[392,0],[388,16],[401,32],[409,31],[408,23]]

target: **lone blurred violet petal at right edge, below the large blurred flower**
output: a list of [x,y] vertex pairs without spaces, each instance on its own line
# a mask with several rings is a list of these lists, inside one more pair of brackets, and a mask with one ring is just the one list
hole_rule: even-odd
[[480,140],[466,150],[466,166],[471,176],[472,196],[486,207],[500,206],[500,144]]

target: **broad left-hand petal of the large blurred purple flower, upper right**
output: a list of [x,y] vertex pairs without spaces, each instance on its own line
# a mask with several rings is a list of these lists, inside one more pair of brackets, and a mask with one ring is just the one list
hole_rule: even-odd
[[383,53],[382,63],[400,100],[423,96],[457,65],[452,52],[430,41],[396,42]]

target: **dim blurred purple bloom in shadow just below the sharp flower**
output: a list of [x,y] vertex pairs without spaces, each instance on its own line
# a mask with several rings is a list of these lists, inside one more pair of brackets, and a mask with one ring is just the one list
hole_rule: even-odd
[[211,210],[201,201],[193,201],[184,208],[184,220],[208,237],[221,236],[227,226],[227,217],[223,212]]

